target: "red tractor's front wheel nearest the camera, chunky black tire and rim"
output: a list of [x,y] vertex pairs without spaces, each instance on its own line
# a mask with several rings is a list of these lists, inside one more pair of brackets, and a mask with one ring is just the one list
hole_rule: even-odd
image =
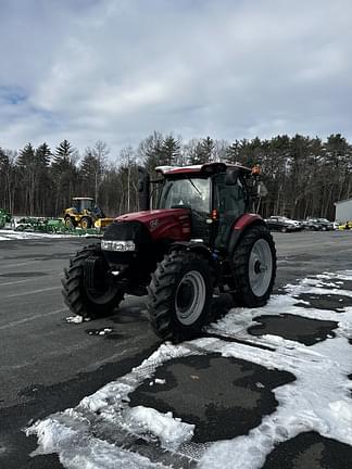
[[211,316],[212,268],[190,251],[173,251],[159,264],[148,287],[151,326],[162,339],[181,341],[197,335]]

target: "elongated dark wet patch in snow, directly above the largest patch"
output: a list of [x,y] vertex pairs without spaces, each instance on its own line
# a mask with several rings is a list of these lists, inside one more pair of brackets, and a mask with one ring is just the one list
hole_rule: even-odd
[[338,327],[338,322],[335,321],[307,319],[290,314],[257,316],[254,320],[262,324],[250,327],[248,329],[250,334],[280,335],[284,339],[298,341],[304,345],[314,345],[317,342],[334,338],[332,329]]

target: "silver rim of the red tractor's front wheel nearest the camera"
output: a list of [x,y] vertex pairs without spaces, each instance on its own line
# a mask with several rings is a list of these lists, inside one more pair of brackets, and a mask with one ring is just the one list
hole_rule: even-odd
[[185,326],[196,322],[204,308],[205,296],[206,288],[203,276],[197,270],[188,271],[176,290],[177,319]]

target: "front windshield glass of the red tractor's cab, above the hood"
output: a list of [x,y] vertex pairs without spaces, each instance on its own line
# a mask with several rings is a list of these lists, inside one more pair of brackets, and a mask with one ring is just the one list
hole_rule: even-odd
[[210,212],[210,179],[185,178],[166,180],[160,197],[159,208],[188,207]]

